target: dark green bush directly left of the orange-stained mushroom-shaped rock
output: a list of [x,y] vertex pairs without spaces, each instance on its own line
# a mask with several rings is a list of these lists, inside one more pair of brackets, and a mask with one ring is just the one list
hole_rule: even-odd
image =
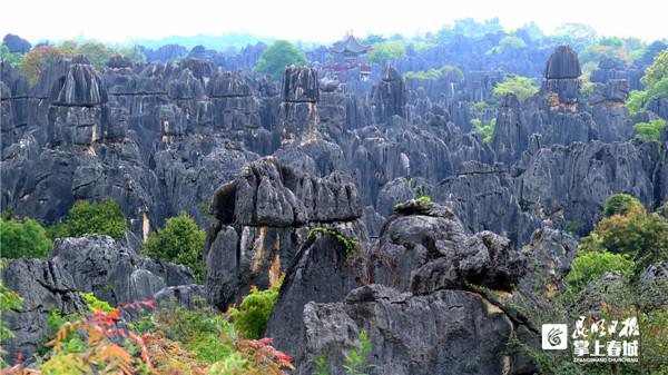
[[204,280],[204,241],[206,234],[185,213],[168,218],[165,228],[144,243],[144,255],[190,267],[198,283]]

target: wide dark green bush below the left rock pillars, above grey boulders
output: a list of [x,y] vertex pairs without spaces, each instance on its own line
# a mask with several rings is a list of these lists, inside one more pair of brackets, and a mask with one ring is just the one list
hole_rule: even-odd
[[61,237],[81,237],[86,234],[120,238],[128,230],[118,203],[109,197],[100,203],[80,201],[70,208],[62,224]]

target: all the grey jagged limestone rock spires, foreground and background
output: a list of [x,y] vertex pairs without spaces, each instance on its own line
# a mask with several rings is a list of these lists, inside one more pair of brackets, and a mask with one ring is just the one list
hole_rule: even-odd
[[[497,119],[489,142],[470,132],[468,101],[489,98],[499,72],[424,87],[394,68],[343,83],[291,67],[279,86],[195,57],[114,58],[101,72],[60,57],[30,86],[0,68],[2,207],[50,223],[79,199],[110,196],[131,224],[126,240],[60,239],[49,260],[2,269],[26,298],[8,314],[9,355],[36,349],[51,309],[82,308],[78,290],[114,305],[202,296],[226,308],[286,270],[266,335],[298,374],[321,355],[338,368],[361,330],[379,373],[464,373],[474,362],[481,374],[529,374],[528,358],[497,354],[532,327],[471,285],[532,289],[537,268],[569,269],[577,243],[567,220],[590,229],[613,193],[650,208],[668,199],[665,147],[629,141],[639,119],[623,101],[637,72],[602,61],[584,102],[568,47],[548,59],[539,93],[479,114]],[[644,116],[668,119],[666,100]],[[434,204],[411,200],[420,195]],[[137,255],[179,211],[210,226],[204,286],[187,268]],[[317,227],[355,240],[356,254]]]

